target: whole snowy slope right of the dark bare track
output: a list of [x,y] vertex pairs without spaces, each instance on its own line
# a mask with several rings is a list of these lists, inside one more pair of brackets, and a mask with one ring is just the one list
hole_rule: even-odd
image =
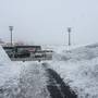
[[48,62],[74,89],[78,98],[98,98],[98,44],[70,50],[54,49]]

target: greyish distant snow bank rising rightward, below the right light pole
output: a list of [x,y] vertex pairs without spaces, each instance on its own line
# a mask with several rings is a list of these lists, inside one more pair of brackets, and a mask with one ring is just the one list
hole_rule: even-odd
[[62,50],[60,53],[56,51],[53,54],[54,60],[60,61],[81,61],[91,60],[98,57],[98,44],[85,46],[79,48],[70,48],[70,50]]

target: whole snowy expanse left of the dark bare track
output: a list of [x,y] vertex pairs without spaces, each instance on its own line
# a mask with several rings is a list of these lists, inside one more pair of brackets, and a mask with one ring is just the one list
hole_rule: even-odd
[[0,47],[0,98],[50,98],[41,64],[12,62]]

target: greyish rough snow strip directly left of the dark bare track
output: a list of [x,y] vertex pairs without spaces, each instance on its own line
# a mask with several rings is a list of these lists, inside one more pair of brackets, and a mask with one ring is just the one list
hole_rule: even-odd
[[25,62],[21,74],[21,98],[50,98],[46,72],[38,62]]

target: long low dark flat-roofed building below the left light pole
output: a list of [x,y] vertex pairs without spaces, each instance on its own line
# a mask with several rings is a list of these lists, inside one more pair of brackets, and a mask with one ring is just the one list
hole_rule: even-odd
[[41,50],[40,46],[12,46],[3,47],[10,58],[30,58],[30,53]]

